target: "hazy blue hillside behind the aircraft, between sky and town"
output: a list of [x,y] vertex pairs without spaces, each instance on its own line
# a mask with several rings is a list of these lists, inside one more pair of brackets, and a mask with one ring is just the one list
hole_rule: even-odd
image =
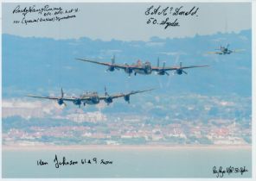
[[[53,40],[23,38],[3,34],[3,98],[22,97],[28,93],[57,94],[61,86],[66,92],[83,90],[110,92],[158,88],[154,94],[186,94],[251,96],[252,31],[240,34],[196,35],[194,38],[159,39],[150,41]],[[230,55],[206,54],[230,44],[231,49],[246,49]],[[131,76],[125,72],[105,72],[107,67],[75,60],[91,58],[131,64],[138,59],[150,60],[156,66],[157,57],[166,66],[209,65],[188,70],[188,75]],[[170,73],[171,74],[171,73]]]

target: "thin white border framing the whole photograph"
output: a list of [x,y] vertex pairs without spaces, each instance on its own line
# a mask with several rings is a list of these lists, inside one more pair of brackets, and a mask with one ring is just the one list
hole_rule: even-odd
[[[1,5],[0,5],[0,32],[1,32],[1,37],[0,37],[0,56],[1,56],[1,62],[0,62],[0,68],[1,68],[1,75],[0,75],[0,83],[1,83],[1,89],[0,89],[0,97],[1,97],[1,102],[0,102],[0,106],[1,106],[1,110],[0,110],[0,116],[1,116],[1,121],[2,121],[2,3],[252,3],[252,159],[253,159],[253,165],[252,165],[252,178],[224,178],[225,180],[234,180],[234,179],[239,179],[239,180],[255,180],[256,179],[256,145],[255,145],[255,141],[256,141],[256,126],[255,126],[255,114],[256,114],[256,107],[255,107],[255,96],[256,96],[256,82],[255,80],[255,76],[256,76],[256,53],[255,53],[255,48],[256,48],[256,41],[255,41],[255,30],[256,30],[256,0],[75,0],[75,1],[71,1],[71,0],[2,0]],[[1,126],[0,126],[1,130],[0,130],[0,142],[1,142],[1,151],[2,151],[2,122],[1,122]],[[2,152],[0,155],[0,160],[1,160],[1,165],[0,165],[0,173],[2,176]],[[138,180],[163,180],[163,181],[167,181],[167,180],[219,180],[221,178],[32,178],[29,180],[134,180],[134,181],[138,181]],[[28,178],[2,178],[1,180],[28,180]]]

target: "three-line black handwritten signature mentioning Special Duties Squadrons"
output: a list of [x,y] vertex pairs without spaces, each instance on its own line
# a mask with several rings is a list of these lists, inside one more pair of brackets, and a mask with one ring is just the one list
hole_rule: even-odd
[[17,5],[13,9],[12,14],[18,16],[18,19],[13,21],[14,24],[28,25],[39,22],[61,22],[62,20],[75,18],[78,12],[78,8],[63,9],[61,6],[54,7],[47,4],[44,6],[32,5],[28,7]]

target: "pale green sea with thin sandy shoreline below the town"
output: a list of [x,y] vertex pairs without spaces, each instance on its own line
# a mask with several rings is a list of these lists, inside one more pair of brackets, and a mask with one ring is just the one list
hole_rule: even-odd
[[2,177],[252,178],[252,147],[3,147]]

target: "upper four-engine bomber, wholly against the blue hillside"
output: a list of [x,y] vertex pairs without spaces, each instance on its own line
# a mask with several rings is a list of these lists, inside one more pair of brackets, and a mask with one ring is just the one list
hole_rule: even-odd
[[115,69],[123,69],[126,73],[131,76],[131,73],[134,72],[134,75],[138,74],[144,74],[149,75],[151,72],[157,72],[158,75],[170,75],[168,71],[176,71],[176,74],[181,75],[182,73],[188,74],[187,72],[183,71],[183,69],[189,69],[189,68],[196,68],[196,67],[204,67],[204,66],[182,66],[182,62],[180,63],[180,66],[166,66],[165,63],[163,63],[163,66],[159,66],[159,59],[157,60],[157,66],[151,66],[149,61],[141,62],[138,60],[137,64],[116,64],[115,63],[115,56],[112,58],[112,62],[99,62],[92,59],[78,59],[80,61],[90,62],[94,64],[99,64],[103,66],[108,66],[106,71],[113,72]]

